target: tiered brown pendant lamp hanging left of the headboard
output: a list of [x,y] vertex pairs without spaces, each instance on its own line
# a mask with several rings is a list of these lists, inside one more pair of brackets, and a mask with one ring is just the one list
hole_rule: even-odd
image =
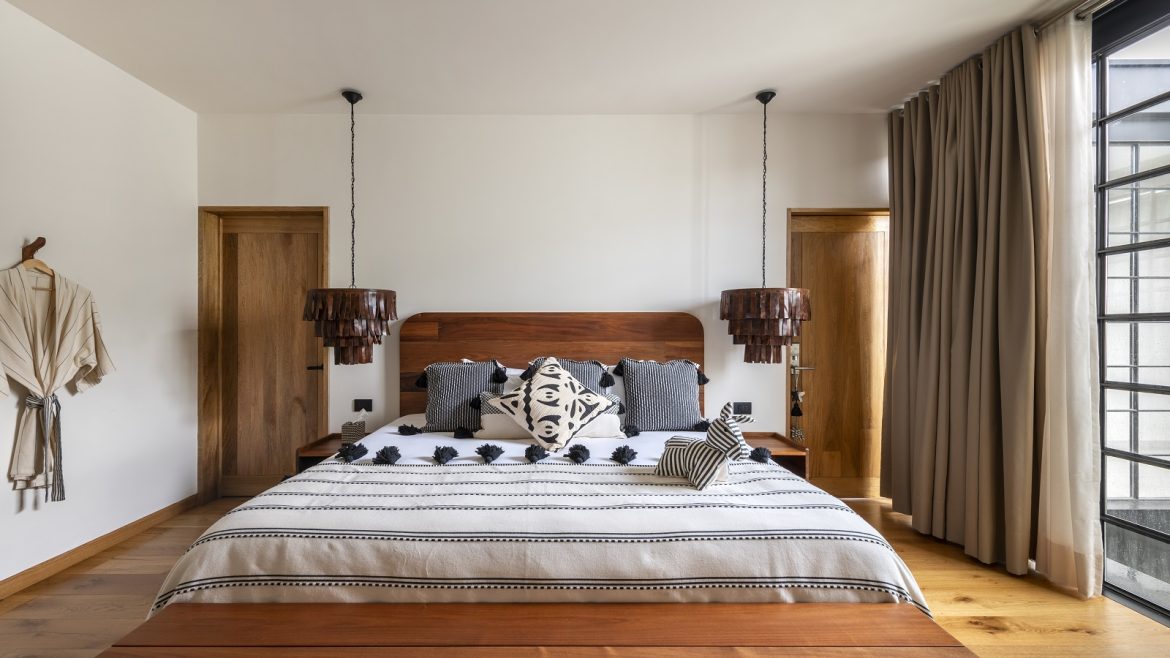
[[373,363],[373,345],[381,344],[390,322],[398,320],[398,309],[393,290],[357,287],[357,177],[353,167],[357,124],[353,105],[362,100],[362,94],[346,89],[342,97],[350,103],[350,287],[309,290],[304,320],[314,323],[315,334],[324,338],[326,348],[333,348],[333,363],[349,365]]

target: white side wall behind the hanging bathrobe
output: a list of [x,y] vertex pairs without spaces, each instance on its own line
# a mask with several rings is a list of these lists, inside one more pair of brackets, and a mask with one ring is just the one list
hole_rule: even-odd
[[[0,267],[44,235],[39,255],[94,292],[117,366],[61,393],[67,499],[0,494],[0,578],[195,491],[195,129],[190,110],[0,1]],[[6,472],[23,397],[9,384]]]

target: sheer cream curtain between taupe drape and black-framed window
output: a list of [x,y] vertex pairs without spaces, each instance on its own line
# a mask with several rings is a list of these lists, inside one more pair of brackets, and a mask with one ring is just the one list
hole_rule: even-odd
[[1035,569],[1086,597],[1102,577],[1092,34],[1067,15],[1039,40],[1052,235]]

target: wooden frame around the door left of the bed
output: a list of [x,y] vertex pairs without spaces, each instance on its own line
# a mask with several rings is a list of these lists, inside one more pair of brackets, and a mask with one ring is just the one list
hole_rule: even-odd
[[[270,221],[290,215],[319,218],[318,245],[321,270],[317,285],[329,281],[329,207],[328,206],[200,206],[199,207],[199,384],[198,384],[198,485],[200,503],[219,498],[222,459],[222,363],[220,359],[223,321],[222,254],[223,222]],[[325,347],[321,345],[321,363]],[[322,370],[318,433],[329,432],[329,368]]]

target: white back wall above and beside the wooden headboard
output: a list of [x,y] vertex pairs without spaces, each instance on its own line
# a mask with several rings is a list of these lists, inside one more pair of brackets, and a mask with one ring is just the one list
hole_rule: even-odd
[[[347,118],[200,115],[200,204],[330,206],[331,283],[347,285]],[[775,115],[769,138],[777,286],[786,208],[887,205],[885,117]],[[717,308],[720,290],[759,285],[759,145],[758,115],[359,115],[358,285],[398,290],[404,318],[691,313],[708,405],[750,400],[753,430],[783,429],[783,368],[744,364]],[[376,424],[397,416],[397,345],[373,366],[333,366],[335,430],[356,397],[376,400]]]

